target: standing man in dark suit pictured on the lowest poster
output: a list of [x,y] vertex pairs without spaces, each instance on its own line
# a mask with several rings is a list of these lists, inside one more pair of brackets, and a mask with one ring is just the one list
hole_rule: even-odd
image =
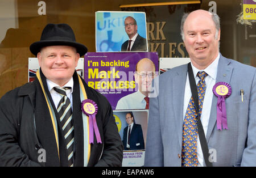
[[126,114],[128,126],[123,129],[124,150],[144,150],[144,138],[140,124],[134,123],[133,113]]

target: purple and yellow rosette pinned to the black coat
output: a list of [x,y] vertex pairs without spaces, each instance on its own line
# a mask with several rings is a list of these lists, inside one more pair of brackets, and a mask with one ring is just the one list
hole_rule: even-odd
[[96,135],[97,143],[101,142],[101,135],[98,131],[98,126],[96,122],[96,115],[98,112],[97,104],[90,99],[83,100],[81,103],[82,112],[89,117],[89,143],[94,143],[93,132]]

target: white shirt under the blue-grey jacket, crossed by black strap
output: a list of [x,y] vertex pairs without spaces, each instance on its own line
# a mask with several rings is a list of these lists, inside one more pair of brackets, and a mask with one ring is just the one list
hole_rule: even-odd
[[[205,90],[204,103],[203,103],[203,108],[201,113],[201,122],[204,128],[205,136],[207,135],[208,123],[210,118],[210,108],[212,107],[212,97],[213,97],[212,88],[216,83],[219,59],[220,59],[220,53],[218,54],[217,58],[204,70],[196,69],[196,67],[193,66],[191,62],[196,84],[200,80],[199,77],[196,76],[199,71],[205,71],[205,73],[208,74],[208,76],[205,77],[206,90]],[[191,93],[189,78],[187,74],[187,81],[185,85],[185,94],[184,94],[184,105],[183,105],[183,121],[185,118],[185,113],[187,111],[188,103],[189,103],[189,100],[191,99],[191,96],[192,96],[192,93]],[[199,161],[198,166],[204,166],[204,156],[203,156],[203,151],[201,149],[201,144],[200,144],[198,135],[197,135],[197,159]]]

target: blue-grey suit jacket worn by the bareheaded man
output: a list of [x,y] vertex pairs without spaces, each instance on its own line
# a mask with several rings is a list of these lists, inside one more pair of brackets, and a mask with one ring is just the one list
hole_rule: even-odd
[[[213,166],[256,166],[255,67],[220,55],[217,82],[227,82],[232,94],[225,99],[228,130],[217,130],[217,97],[213,95],[207,142]],[[187,65],[155,79],[158,94],[150,98],[144,166],[181,166],[183,101]],[[157,85],[156,85],[157,86]],[[243,102],[240,90],[244,90]]]

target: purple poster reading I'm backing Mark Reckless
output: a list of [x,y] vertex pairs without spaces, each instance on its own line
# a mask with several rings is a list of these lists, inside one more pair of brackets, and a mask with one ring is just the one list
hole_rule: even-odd
[[88,52],[84,80],[103,94],[115,109],[148,109],[151,82],[158,75],[156,52]]

